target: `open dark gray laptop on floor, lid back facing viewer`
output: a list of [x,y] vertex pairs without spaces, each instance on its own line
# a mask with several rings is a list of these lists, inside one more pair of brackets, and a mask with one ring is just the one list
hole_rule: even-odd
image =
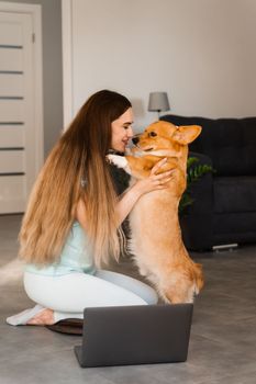
[[192,304],[86,308],[80,366],[170,363],[187,360]]

